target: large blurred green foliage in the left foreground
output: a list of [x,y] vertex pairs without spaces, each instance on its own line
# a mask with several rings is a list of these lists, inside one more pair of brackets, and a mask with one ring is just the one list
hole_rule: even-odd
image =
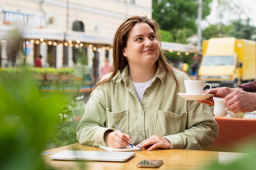
[[0,77],[0,169],[42,170],[40,153],[64,101],[41,96],[26,73],[20,76]]

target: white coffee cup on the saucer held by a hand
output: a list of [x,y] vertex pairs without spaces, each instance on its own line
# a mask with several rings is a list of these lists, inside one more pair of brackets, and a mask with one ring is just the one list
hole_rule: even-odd
[[[211,84],[205,83],[201,80],[184,80],[186,94],[188,95],[206,95],[211,90]],[[205,86],[210,86],[209,90],[205,93],[202,93]]]

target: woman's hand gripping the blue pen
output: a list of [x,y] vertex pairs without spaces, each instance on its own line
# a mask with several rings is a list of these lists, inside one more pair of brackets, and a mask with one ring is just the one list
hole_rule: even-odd
[[104,140],[111,148],[125,148],[130,146],[132,143],[130,135],[115,130],[113,132],[106,132],[104,135]]

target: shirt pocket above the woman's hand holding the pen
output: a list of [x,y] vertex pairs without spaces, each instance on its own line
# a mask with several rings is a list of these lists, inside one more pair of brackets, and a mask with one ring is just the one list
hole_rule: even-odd
[[121,112],[110,112],[107,109],[107,127],[115,128],[114,124],[122,130],[122,132],[128,134],[129,131],[129,113],[128,110],[123,110]]

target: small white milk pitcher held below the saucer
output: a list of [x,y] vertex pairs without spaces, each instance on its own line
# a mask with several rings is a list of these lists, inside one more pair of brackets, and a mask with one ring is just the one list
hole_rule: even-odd
[[225,105],[225,99],[220,97],[213,97],[214,108],[213,115],[216,117],[224,117],[227,115],[227,107]]

